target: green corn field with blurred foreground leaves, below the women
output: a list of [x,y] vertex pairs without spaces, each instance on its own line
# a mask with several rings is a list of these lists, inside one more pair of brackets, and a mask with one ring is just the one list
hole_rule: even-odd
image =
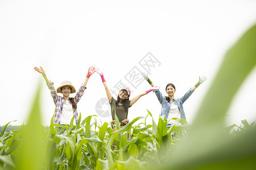
[[[0,169],[255,169],[254,123],[225,128],[229,105],[256,65],[255,44],[256,26],[226,53],[191,125],[177,119],[166,127],[165,117],[156,124],[148,111],[122,128],[116,118],[116,131],[95,116],[81,121],[81,114],[76,126],[71,120],[46,129],[39,83],[26,125],[5,133],[6,124],[1,132]],[[134,125],[139,120],[145,121]]]

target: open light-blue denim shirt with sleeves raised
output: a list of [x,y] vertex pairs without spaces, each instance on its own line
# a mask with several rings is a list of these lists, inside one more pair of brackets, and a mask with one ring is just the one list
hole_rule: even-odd
[[[184,120],[186,120],[186,116],[185,116],[185,112],[184,112],[184,109],[183,109],[183,103],[188,99],[188,97],[190,97],[192,95],[192,93],[194,91],[195,90],[190,89],[188,92],[185,93],[184,96],[180,97],[179,99],[174,98],[174,103],[180,109],[180,118],[183,118]],[[165,114],[166,118],[168,118],[170,108],[171,108],[171,100],[168,102],[159,90],[154,90],[154,92],[155,92],[155,95],[158,97],[158,100],[159,100],[160,104],[162,105],[160,116]]]

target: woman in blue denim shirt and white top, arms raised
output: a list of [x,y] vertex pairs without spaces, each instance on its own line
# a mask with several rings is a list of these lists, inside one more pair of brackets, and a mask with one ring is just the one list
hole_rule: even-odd
[[[144,79],[147,80],[147,82],[154,87],[155,84],[151,82],[151,80],[148,78],[147,74],[143,74],[142,76]],[[176,99],[174,97],[174,94],[176,92],[175,86],[172,83],[167,84],[166,86],[166,93],[168,96],[163,96],[159,90],[155,90],[155,95],[158,97],[158,100],[160,104],[162,105],[161,114],[166,116],[167,118],[167,126],[174,123],[175,120],[172,118],[182,118],[186,120],[185,112],[183,109],[183,103],[188,99],[189,96],[192,95],[192,93],[196,90],[196,88],[203,83],[205,80],[207,80],[206,76],[199,76],[199,82],[195,84],[191,89],[188,90],[188,92],[185,93],[184,96],[180,97],[179,99]]]

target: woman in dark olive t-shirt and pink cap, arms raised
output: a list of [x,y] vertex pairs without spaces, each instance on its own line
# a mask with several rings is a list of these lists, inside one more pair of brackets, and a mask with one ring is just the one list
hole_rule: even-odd
[[129,123],[129,120],[127,120],[127,115],[128,115],[128,109],[129,107],[131,107],[131,105],[133,105],[136,101],[138,101],[138,99],[146,94],[148,94],[149,92],[151,92],[152,90],[158,90],[159,87],[152,87],[150,90],[148,91],[144,91],[142,94],[139,94],[137,96],[135,96],[133,99],[129,100],[129,97],[131,95],[131,91],[129,88],[122,88],[119,91],[119,95],[117,96],[117,100],[115,100],[111,93],[110,90],[108,88],[108,85],[106,84],[106,80],[104,78],[103,72],[102,70],[100,70],[99,68],[96,68],[96,72],[98,74],[100,74],[101,76],[101,80],[102,83],[104,84],[105,90],[106,90],[106,95],[108,96],[108,100],[111,106],[111,112],[112,112],[112,120],[115,120],[115,114],[118,117],[119,122],[121,122],[123,124],[127,124]]

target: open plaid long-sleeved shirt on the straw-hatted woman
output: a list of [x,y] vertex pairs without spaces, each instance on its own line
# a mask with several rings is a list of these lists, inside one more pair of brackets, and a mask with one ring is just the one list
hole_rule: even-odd
[[[49,90],[51,91],[52,99],[56,106],[55,113],[53,116],[53,124],[60,124],[60,116],[62,113],[63,103],[65,102],[65,99],[64,99],[64,97],[57,95],[56,90],[53,87],[53,82],[50,82],[49,84],[47,84],[47,86],[48,86]],[[77,92],[76,96],[74,97],[74,100],[76,103],[78,103],[79,100],[81,99],[82,95],[84,95],[85,89],[86,89],[86,87],[81,84],[79,91]],[[71,101],[70,100],[68,100],[68,101],[72,105]],[[75,118],[76,124],[77,124],[77,122],[79,120],[79,114],[77,113],[77,109],[76,110],[73,109],[73,115],[74,115],[74,118]]]

